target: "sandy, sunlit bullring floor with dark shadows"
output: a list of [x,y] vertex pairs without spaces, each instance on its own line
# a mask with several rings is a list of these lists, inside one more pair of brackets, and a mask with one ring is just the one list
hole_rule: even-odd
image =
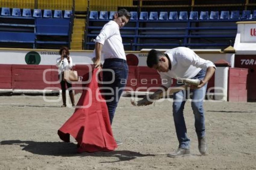
[[123,145],[82,154],[76,153],[74,139],[65,143],[57,135],[74,111],[60,105],[42,96],[0,96],[1,170],[256,169],[256,103],[205,102],[208,155],[200,156],[188,101],[184,114],[192,155],[181,158],[167,157],[178,147],[170,101],[135,107],[122,97],[113,132]]

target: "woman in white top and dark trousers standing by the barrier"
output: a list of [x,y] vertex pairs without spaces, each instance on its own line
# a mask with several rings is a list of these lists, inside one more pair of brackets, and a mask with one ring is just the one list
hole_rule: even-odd
[[63,80],[63,75],[64,75],[64,71],[65,70],[70,70],[73,66],[72,64],[72,58],[69,56],[69,50],[67,47],[61,47],[59,54],[61,55],[61,57],[59,57],[56,60],[56,65],[58,66],[59,69],[59,80],[61,82],[61,90],[62,90],[62,101],[63,101],[63,105],[61,105],[61,107],[66,107],[67,103],[66,103],[66,84],[67,84],[67,88],[69,90],[69,96],[70,96],[70,100],[72,103],[72,106],[75,105],[75,98],[74,98],[74,93],[72,88],[72,84],[64,81]]

